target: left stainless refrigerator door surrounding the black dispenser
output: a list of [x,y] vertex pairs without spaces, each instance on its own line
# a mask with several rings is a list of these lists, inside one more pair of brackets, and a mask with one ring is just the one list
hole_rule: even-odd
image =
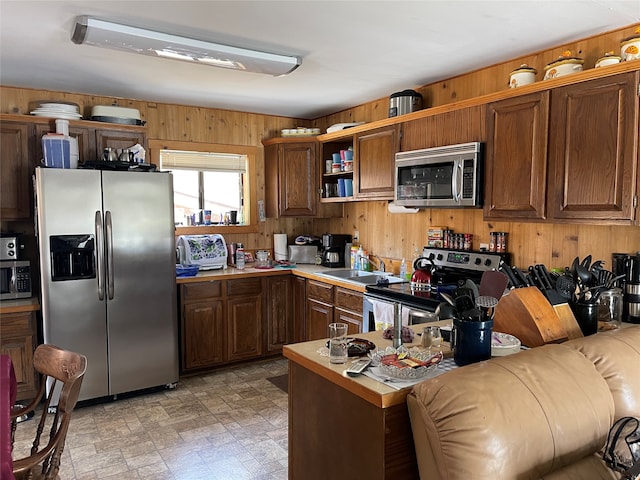
[[38,168],[35,178],[44,342],[86,355],[80,399],[102,397],[109,393],[107,306],[98,298],[98,278],[52,281],[51,265],[52,237],[102,241],[95,231],[96,212],[102,210],[100,172]]

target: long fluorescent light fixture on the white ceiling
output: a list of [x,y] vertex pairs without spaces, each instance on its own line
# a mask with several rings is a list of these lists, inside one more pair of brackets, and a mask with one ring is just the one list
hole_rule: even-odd
[[76,18],[71,40],[77,44],[275,76],[291,73],[302,63],[300,57],[292,55],[207,42],[87,15]]

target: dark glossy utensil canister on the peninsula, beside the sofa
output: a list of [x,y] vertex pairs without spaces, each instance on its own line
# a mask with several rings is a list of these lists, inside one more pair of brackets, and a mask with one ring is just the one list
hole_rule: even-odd
[[491,358],[493,320],[484,322],[453,319],[451,348],[456,365],[468,365]]

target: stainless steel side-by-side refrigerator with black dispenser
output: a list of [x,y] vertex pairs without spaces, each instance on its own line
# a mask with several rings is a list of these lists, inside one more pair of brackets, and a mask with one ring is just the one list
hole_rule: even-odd
[[45,343],[87,356],[80,400],[178,381],[170,173],[37,168]]

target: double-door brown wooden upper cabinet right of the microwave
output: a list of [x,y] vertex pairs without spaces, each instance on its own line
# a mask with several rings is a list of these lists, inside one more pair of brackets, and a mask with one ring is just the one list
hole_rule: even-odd
[[636,221],[638,72],[490,103],[486,219]]

